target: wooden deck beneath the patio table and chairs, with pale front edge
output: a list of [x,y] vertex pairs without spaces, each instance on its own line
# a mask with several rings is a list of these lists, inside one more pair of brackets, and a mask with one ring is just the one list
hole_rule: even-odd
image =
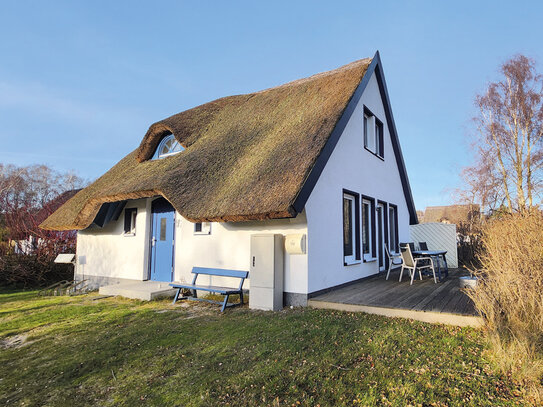
[[461,269],[451,269],[443,282],[434,283],[430,277],[409,285],[404,273],[398,282],[399,269],[379,274],[364,281],[318,295],[308,301],[314,308],[342,311],[362,311],[390,317],[411,318],[424,322],[460,326],[480,326],[481,319],[473,302],[459,287]]

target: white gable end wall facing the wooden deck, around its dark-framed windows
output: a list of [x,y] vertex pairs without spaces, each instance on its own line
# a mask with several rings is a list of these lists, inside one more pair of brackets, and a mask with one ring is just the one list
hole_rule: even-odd
[[[384,126],[384,161],[364,148],[364,105]],[[377,261],[344,266],[343,189],[398,206],[400,242],[409,241],[409,212],[373,74],[307,204],[309,293],[378,273]]]

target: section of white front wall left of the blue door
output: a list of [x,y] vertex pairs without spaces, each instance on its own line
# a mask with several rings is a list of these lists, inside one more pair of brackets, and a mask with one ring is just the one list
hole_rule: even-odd
[[125,208],[138,208],[134,236],[124,235],[124,211],[116,222],[77,233],[77,275],[147,279],[151,204],[138,199],[128,201]]

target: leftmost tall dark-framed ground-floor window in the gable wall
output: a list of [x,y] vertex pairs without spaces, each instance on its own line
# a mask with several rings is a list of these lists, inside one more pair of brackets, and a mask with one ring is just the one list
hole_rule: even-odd
[[343,192],[343,259],[345,265],[360,262],[358,194]]

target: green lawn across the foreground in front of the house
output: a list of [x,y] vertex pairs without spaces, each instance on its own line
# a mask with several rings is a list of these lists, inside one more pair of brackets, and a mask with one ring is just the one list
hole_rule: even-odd
[[516,405],[481,333],[366,314],[0,292],[0,405]]

